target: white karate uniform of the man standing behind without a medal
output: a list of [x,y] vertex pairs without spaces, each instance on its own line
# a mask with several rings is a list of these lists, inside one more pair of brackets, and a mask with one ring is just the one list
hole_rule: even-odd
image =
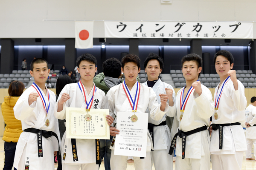
[[[147,82],[143,83],[143,85],[148,86]],[[159,94],[166,94],[165,88],[170,88],[173,90],[172,99],[175,103],[175,91],[171,85],[162,82],[161,79],[158,79],[157,82],[153,86],[153,91],[157,96],[158,104],[161,103]],[[168,101],[169,102],[169,101]],[[166,121],[166,116],[171,116],[172,112],[176,112],[176,107],[169,108],[169,111],[163,116],[163,118],[159,121],[156,121],[150,117],[148,114],[148,123],[159,125],[160,123]],[[149,113],[148,109],[146,113]],[[177,128],[175,129],[176,132]],[[167,125],[163,126],[155,126],[154,127],[154,151],[151,151],[151,163],[154,164],[156,170],[172,170],[173,160],[172,155],[169,155],[169,149],[171,145],[171,136],[170,130]]]

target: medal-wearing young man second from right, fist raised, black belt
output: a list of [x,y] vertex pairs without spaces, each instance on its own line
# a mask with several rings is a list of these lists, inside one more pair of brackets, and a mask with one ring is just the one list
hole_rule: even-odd
[[207,127],[214,112],[212,94],[198,81],[202,58],[197,54],[188,54],[181,62],[186,86],[177,92],[174,107],[177,107],[179,130],[172,139],[169,153],[173,154],[176,143],[176,170],[210,170]]

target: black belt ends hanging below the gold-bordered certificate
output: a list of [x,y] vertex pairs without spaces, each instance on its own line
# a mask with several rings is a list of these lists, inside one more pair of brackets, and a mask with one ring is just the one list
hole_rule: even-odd
[[[73,161],[78,161],[78,155],[77,155],[77,150],[76,150],[76,139],[71,139],[71,144],[72,144]],[[101,156],[100,156],[99,139],[95,139],[95,150],[96,150],[96,164],[101,164],[102,160],[101,160]]]

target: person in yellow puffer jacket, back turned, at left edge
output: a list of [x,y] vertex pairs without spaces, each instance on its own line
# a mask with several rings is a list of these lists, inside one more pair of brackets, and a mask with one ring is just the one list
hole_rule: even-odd
[[6,124],[3,140],[4,142],[4,167],[3,170],[12,170],[16,145],[22,133],[21,121],[17,120],[13,113],[15,106],[20,95],[23,93],[25,86],[22,82],[13,81],[8,89],[9,96],[5,96],[2,104],[3,119]]

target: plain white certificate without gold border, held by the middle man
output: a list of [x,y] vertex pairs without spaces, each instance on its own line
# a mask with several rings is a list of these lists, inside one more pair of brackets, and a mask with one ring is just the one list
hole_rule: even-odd
[[116,135],[114,154],[122,156],[146,157],[148,113],[137,113],[136,122],[131,121],[134,113],[117,112],[116,128],[120,130]]

